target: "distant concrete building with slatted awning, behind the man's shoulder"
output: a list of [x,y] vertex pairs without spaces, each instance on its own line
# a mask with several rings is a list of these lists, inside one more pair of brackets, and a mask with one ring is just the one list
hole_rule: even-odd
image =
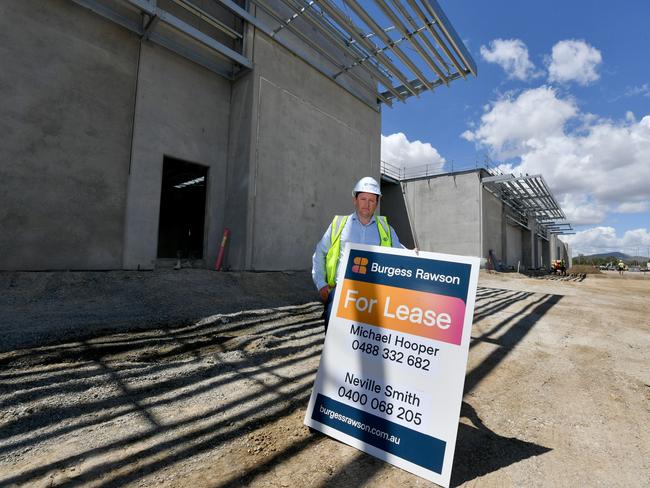
[[407,246],[477,256],[483,266],[525,271],[571,262],[559,235],[571,229],[541,175],[483,168],[382,180],[382,212]]

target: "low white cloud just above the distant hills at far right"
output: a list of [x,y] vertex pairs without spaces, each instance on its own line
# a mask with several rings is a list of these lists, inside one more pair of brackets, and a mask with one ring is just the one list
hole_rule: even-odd
[[613,227],[593,227],[576,232],[575,235],[562,236],[562,240],[571,246],[574,256],[613,251],[645,255],[650,246],[650,232],[648,229],[634,229],[619,237]]

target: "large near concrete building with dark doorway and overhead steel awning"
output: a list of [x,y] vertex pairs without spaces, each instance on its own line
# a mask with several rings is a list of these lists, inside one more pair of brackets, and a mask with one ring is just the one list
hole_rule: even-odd
[[382,107],[476,73],[435,0],[344,2],[1,2],[0,269],[309,267]]

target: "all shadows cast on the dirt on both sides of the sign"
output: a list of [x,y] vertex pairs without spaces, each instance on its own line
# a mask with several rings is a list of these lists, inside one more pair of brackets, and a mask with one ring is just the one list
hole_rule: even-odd
[[[472,338],[471,347],[480,342],[498,347],[468,372],[465,393],[498,368],[560,299],[480,288],[475,322],[497,312],[503,318]],[[0,353],[0,460],[17,460],[34,446],[56,445],[77,433],[87,435],[89,429],[110,430],[126,417],[138,417],[142,426],[29,469],[12,472],[5,462],[0,484],[29,486],[80,463],[84,469],[74,475],[68,471],[57,480],[58,486],[93,482],[120,487],[151,480],[175,463],[295,415],[306,407],[316,372],[307,363],[313,365],[320,355],[320,312],[317,304],[266,309]],[[295,367],[292,375],[286,373],[289,366]],[[251,391],[224,398],[197,415],[161,416],[165,408],[200,402],[197,399],[229,383],[252,386]],[[106,384],[109,392],[95,393]],[[52,402],[61,394],[70,398]],[[463,403],[461,416],[471,426],[461,423],[459,427],[454,486],[550,450],[493,432],[469,403]],[[211,486],[252,484],[320,441],[320,434],[299,437],[255,466]],[[360,486],[385,467],[358,453],[332,473],[325,486]]]

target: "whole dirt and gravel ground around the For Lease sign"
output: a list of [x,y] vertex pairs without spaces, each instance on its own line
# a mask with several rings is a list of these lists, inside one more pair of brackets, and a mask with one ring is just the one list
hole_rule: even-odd
[[[309,281],[0,273],[0,486],[433,486],[303,426]],[[452,486],[648,486],[649,304],[641,273],[482,273]]]

